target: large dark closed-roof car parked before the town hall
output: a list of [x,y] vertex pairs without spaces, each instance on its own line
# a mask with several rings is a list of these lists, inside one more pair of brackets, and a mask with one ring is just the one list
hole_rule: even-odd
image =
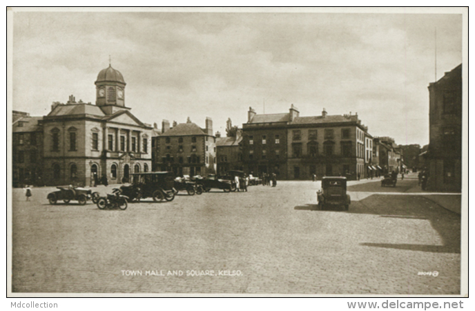
[[[175,185],[175,175],[171,171],[150,171],[144,173],[130,174],[133,186],[139,189],[136,198],[153,198],[154,201],[163,199],[171,201],[175,198],[173,186]],[[134,189],[131,187],[130,189]],[[133,191],[133,190],[130,190]],[[124,192],[122,192],[125,196]]]

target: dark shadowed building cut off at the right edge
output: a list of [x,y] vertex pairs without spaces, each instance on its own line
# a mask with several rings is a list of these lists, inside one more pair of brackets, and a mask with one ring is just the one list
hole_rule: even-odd
[[428,189],[462,188],[462,64],[429,84]]

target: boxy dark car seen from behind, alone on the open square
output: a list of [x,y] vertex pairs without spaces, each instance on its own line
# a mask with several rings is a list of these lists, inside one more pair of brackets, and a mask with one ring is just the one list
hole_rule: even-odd
[[345,210],[348,210],[351,198],[347,194],[347,178],[323,177],[322,189],[317,191],[317,200],[320,209],[342,205],[345,207]]

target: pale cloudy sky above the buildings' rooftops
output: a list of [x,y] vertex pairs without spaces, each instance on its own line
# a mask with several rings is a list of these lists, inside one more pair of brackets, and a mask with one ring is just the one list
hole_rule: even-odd
[[148,124],[211,117],[224,133],[250,106],[293,104],[301,116],[358,113],[371,135],[422,146],[427,86],[462,63],[462,29],[461,14],[15,12],[12,109],[95,104],[110,55],[126,106]]

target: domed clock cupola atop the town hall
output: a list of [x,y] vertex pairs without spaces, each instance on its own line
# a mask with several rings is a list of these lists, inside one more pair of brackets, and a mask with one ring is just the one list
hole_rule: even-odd
[[96,105],[102,106],[105,113],[116,111],[114,107],[125,106],[126,82],[119,70],[108,66],[102,69],[97,75],[96,85]]

